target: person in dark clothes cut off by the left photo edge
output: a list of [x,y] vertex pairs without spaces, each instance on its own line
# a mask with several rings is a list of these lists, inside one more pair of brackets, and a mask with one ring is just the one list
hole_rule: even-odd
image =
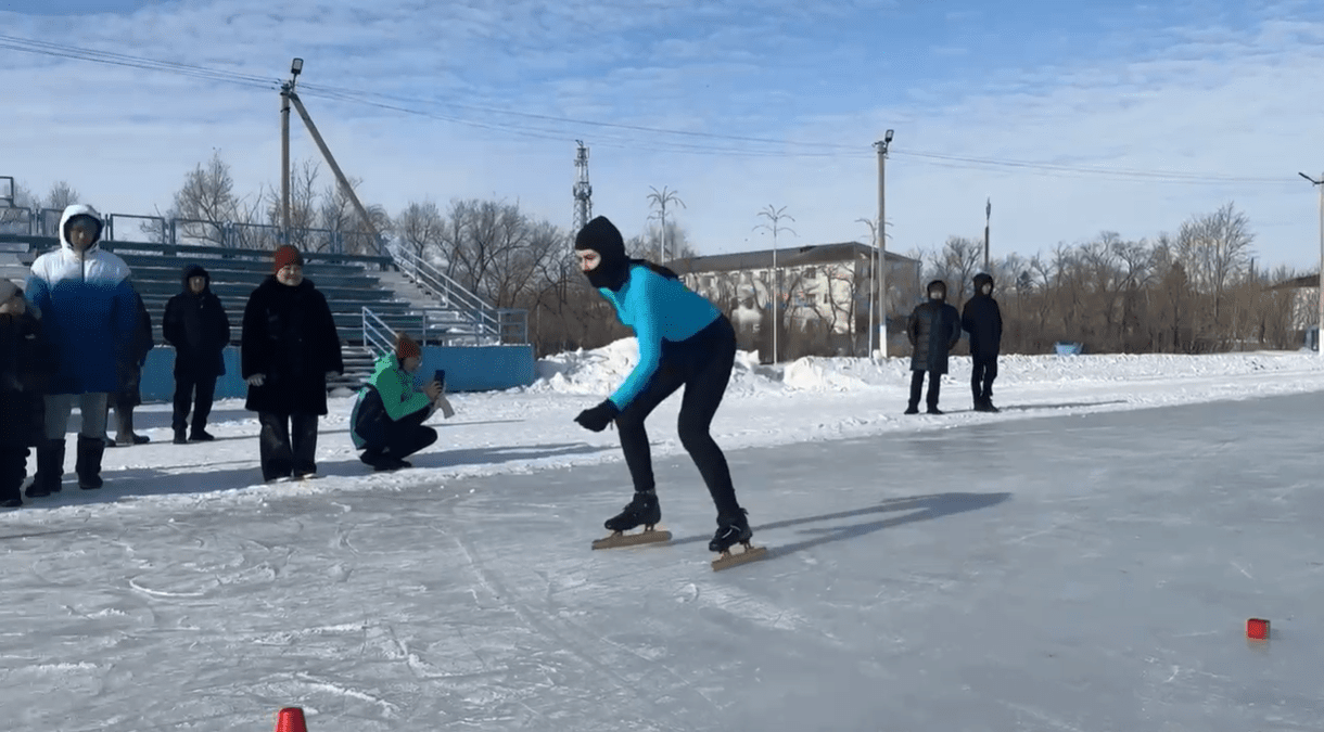
[[23,289],[0,279],[0,508],[23,506],[29,447],[45,443],[44,393],[54,365],[37,310]]

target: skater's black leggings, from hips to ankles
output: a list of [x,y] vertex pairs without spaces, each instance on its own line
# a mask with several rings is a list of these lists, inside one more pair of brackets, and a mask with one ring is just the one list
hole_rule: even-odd
[[740,511],[736,491],[731,484],[731,469],[722,449],[708,434],[712,417],[722,404],[722,396],[731,380],[731,367],[736,359],[736,334],[731,320],[720,316],[694,336],[679,343],[662,344],[662,361],[643,392],[616,418],[621,432],[625,465],[630,469],[636,491],[654,488],[653,455],[643,421],[653,409],[675,393],[682,385],[681,420],[677,432],[681,445],[694,459],[703,482],[708,486],[718,515],[735,516]]

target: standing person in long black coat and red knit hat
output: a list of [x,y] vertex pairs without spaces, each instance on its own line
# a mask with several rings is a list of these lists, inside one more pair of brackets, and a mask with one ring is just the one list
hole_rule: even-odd
[[327,377],[344,371],[340,336],[326,297],[303,278],[294,246],[275,250],[274,274],[244,307],[240,361],[258,413],[262,478],[316,474],[318,417],[327,413]]

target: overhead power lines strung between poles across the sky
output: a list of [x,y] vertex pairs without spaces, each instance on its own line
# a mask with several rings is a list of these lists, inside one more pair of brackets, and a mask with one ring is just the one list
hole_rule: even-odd
[[[197,66],[193,64],[159,61],[154,58],[144,58],[122,53],[69,46],[62,44],[53,44],[49,41],[23,38],[17,36],[0,34],[0,50],[15,50],[21,53],[33,53],[48,57],[87,61],[94,64],[146,69],[160,73],[201,78],[205,81],[236,83],[241,86],[262,87],[270,90],[279,89],[281,85],[279,79],[270,77],[261,77],[238,71],[228,71],[221,69],[211,69],[207,66]],[[418,110],[402,105],[440,106],[453,110],[463,110],[463,111],[481,113],[489,115],[507,115],[514,118],[536,120],[539,123],[552,123],[560,126],[569,124],[577,127],[587,126],[587,127],[598,127],[604,130],[617,131],[618,134],[616,135],[610,134],[594,135],[594,144],[604,147],[637,150],[638,146],[641,144],[639,139],[637,135],[630,136],[629,134],[643,132],[658,136],[712,140],[711,144],[703,144],[699,142],[687,143],[674,139],[647,140],[650,150],[658,152],[724,155],[724,156],[740,156],[740,158],[822,158],[822,159],[849,159],[849,158],[863,159],[865,156],[873,158],[873,151],[866,146],[850,146],[842,143],[828,143],[828,142],[813,142],[813,140],[784,140],[773,138],[759,138],[751,135],[698,132],[694,130],[671,130],[665,127],[650,127],[645,124],[598,122],[591,119],[577,119],[571,116],[557,116],[557,115],[527,113],[519,110],[485,107],[478,105],[465,105],[465,103],[446,102],[440,99],[420,99],[410,97],[400,97],[392,94],[383,94],[377,91],[363,91],[363,90],[330,86],[330,85],[303,83],[302,89],[303,94],[308,97],[320,97],[324,99],[332,99],[350,105],[371,106],[387,111],[396,111],[401,114],[424,116],[440,122],[448,122],[451,124],[461,124],[479,130],[490,130],[495,132],[519,135],[532,139],[565,142],[568,139],[573,139],[575,132],[557,128],[555,126],[548,127],[547,124],[534,126],[534,124],[520,124],[512,122],[495,122],[495,120],[483,122],[459,115]],[[399,102],[399,103],[392,103],[392,102]],[[767,146],[775,148],[757,150],[749,147],[735,147],[732,144],[723,146],[718,143],[743,143],[745,146],[752,144],[752,146]],[[970,158],[970,156],[959,156],[959,155],[927,152],[919,150],[903,150],[903,148],[894,150],[892,154],[900,158],[911,158],[915,161],[935,167],[961,168],[961,169],[1000,169],[1000,168],[1018,169],[1047,177],[1107,177],[1119,181],[1181,183],[1181,184],[1204,184],[1204,185],[1287,184],[1295,180],[1288,176],[1282,176],[1282,177],[1237,176],[1226,173],[1107,168],[1095,165],[1068,165],[1062,163],[1043,163],[1031,160]]]

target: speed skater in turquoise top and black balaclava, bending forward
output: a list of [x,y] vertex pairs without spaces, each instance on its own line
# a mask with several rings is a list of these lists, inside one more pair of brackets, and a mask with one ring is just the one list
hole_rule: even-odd
[[748,543],[753,532],[747,511],[736,502],[726,455],[708,429],[722,404],[736,355],[731,322],[711,302],[687,289],[671,270],[632,259],[621,232],[602,216],[575,238],[575,254],[589,285],[616,308],[639,343],[639,363],[625,383],[597,406],[575,418],[585,429],[602,432],[616,422],[621,449],[634,482],[634,498],[604,524],[608,531],[651,527],[662,518],[653,479],[653,458],[643,421],[682,385],[681,443],[694,459],[718,510],[718,531],[708,543],[726,552]]

